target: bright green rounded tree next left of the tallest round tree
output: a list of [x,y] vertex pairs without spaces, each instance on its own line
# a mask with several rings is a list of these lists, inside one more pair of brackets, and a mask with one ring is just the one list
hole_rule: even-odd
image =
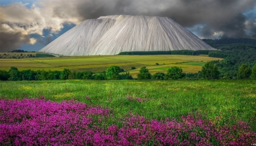
[[185,77],[185,73],[182,73],[182,68],[181,67],[171,67],[168,69],[166,75],[165,75],[165,79],[173,79],[173,80],[178,80],[178,79],[182,79],[183,77]]

